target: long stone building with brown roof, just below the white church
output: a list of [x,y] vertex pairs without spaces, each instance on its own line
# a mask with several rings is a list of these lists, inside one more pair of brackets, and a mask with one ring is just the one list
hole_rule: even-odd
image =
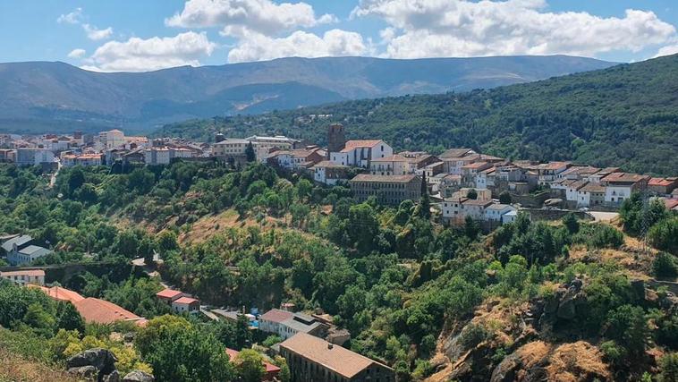
[[360,201],[374,196],[379,203],[397,206],[403,200],[421,197],[421,178],[414,174],[358,174],[349,183],[353,195]]

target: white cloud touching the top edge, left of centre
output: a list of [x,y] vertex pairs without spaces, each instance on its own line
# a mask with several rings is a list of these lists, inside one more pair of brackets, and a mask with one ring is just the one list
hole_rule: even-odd
[[273,35],[281,30],[309,28],[337,21],[335,16],[316,17],[306,3],[275,4],[270,0],[188,0],[181,13],[165,19],[172,27],[223,27],[222,34],[252,30]]

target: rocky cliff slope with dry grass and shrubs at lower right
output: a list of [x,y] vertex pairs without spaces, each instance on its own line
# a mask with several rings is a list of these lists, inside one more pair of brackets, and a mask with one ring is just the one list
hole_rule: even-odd
[[[489,299],[467,322],[449,322],[431,360],[436,372],[427,382],[442,381],[613,381],[635,378],[634,370],[614,371],[599,345],[602,336],[585,335],[578,319],[590,310],[587,280],[549,285],[554,293],[515,304]],[[631,282],[648,307],[678,310],[678,298],[657,296],[648,284]],[[663,353],[649,348],[638,365],[653,369]]]

